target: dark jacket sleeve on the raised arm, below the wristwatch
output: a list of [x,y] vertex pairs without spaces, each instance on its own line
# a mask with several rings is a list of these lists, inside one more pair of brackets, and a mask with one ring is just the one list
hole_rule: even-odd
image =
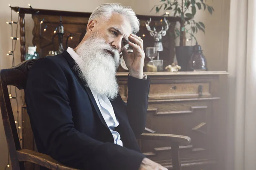
[[128,76],[127,116],[136,137],[145,129],[150,79]]

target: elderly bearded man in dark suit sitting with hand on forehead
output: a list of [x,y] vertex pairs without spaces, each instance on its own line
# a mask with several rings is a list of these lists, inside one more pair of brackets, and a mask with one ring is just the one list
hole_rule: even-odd
[[[150,80],[143,74],[139,20],[129,7],[103,4],[75,48],[38,59],[26,104],[38,151],[84,170],[163,170],[140,152]],[[128,54],[124,46],[134,48]],[[128,102],[116,82],[119,54],[129,68]]]

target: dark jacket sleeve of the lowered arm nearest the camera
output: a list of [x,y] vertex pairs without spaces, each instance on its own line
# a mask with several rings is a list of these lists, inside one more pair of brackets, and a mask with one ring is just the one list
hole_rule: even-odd
[[75,129],[68,80],[52,59],[33,65],[26,86],[26,105],[49,155],[67,166],[95,170],[137,170],[145,157],[113,143],[103,143]]

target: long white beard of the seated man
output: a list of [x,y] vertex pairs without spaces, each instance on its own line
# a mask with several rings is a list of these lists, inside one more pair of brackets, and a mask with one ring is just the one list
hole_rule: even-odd
[[[112,51],[114,57],[107,50]],[[119,93],[116,81],[116,70],[120,63],[119,52],[95,32],[78,46],[76,53],[81,61],[76,64],[75,69],[91,91],[107,96],[108,99],[115,99]]]

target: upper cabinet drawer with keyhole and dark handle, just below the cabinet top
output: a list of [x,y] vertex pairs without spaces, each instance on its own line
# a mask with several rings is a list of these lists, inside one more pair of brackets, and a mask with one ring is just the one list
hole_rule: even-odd
[[149,100],[210,97],[210,83],[151,84]]

